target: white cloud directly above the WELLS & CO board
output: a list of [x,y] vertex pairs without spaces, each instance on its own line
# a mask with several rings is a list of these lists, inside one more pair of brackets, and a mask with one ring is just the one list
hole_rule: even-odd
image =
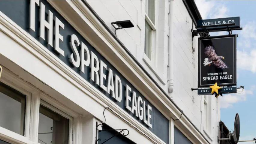
[[228,8],[221,1],[195,1],[203,19],[215,19],[228,16]]

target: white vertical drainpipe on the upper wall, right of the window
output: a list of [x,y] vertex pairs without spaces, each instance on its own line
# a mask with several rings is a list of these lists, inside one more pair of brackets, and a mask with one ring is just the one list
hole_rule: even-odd
[[[169,38],[168,38],[168,91],[169,93],[173,92],[174,82],[173,82],[173,21],[174,21],[174,1],[169,1]],[[172,98],[172,97],[171,97]]]

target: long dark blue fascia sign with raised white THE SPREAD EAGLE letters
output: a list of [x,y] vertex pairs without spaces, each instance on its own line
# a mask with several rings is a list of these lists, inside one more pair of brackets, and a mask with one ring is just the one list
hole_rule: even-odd
[[[0,1],[0,11],[26,31],[26,35],[40,42],[47,52],[53,53],[65,66],[100,91],[103,97],[169,143],[169,120],[47,1]],[[40,20],[41,17],[44,20]],[[41,29],[40,26],[47,28]]]

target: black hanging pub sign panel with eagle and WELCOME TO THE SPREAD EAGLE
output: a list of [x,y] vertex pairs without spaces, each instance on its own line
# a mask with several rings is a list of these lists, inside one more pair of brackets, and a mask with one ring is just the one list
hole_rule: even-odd
[[199,38],[198,88],[236,85],[236,35]]

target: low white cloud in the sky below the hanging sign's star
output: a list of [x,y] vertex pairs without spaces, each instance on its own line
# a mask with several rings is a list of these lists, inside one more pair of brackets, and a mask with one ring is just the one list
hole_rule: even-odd
[[250,88],[250,90],[244,89],[244,91],[242,93],[239,93],[239,91],[242,91],[242,89],[238,89],[237,90],[238,93],[236,93],[236,94],[223,95],[223,97],[220,97],[221,108],[222,109],[229,108],[229,107],[232,107],[233,104],[235,104],[237,102],[246,101],[246,97],[248,95],[252,95],[254,89],[255,89],[255,86],[252,86]]

